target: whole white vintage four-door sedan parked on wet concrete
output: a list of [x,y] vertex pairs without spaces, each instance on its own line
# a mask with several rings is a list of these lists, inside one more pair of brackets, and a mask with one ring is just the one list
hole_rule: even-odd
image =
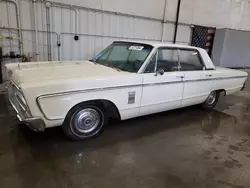
[[89,61],[6,65],[9,100],[35,131],[62,125],[71,139],[126,120],[190,105],[213,108],[220,93],[244,88],[248,74],[215,67],[204,49],[115,41]]

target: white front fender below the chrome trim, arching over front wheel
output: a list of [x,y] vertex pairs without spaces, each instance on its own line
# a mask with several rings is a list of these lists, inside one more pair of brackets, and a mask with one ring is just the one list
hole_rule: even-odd
[[[63,120],[68,111],[79,103],[92,100],[108,100],[117,107],[123,120],[138,116],[142,95],[141,91],[142,86],[140,85],[101,90],[71,91],[41,95],[37,97],[36,102],[44,118],[52,121]],[[129,101],[131,93],[134,93],[133,101]]]

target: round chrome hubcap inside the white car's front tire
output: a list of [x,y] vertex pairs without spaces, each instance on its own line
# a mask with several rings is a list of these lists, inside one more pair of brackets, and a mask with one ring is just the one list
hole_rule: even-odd
[[86,108],[77,112],[73,122],[77,131],[89,133],[99,125],[100,114],[95,109]]

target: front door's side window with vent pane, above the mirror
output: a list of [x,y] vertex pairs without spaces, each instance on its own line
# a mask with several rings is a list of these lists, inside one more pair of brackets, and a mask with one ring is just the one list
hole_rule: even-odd
[[[158,54],[158,56],[157,56]],[[157,65],[156,64],[157,61]],[[154,73],[156,70],[163,69],[164,72],[178,71],[178,51],[177,49],[159,49],[149,62],[145,73]]]

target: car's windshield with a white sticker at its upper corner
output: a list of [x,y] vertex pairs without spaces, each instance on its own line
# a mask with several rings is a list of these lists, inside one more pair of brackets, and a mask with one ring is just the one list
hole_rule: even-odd
[[115,42],[92,61],[123,71],[138,72],[152,49],[146,44]]

